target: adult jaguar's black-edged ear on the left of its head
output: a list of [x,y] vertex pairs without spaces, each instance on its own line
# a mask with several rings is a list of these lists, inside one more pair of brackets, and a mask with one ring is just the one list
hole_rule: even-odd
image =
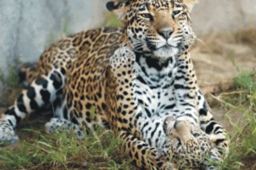
[[128,1],[125,3],[109,1],[106,4],[106,6],[110,12],[115,13],[115,15],[118,17],[118,19],[124,21],[125,13],[127,10],[126,7],[128,6],[128,4],[129,4]]

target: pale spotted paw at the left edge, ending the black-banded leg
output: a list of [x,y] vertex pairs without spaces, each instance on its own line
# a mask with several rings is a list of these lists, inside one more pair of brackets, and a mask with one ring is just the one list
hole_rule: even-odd
[[19,137],[8,120],[0,120],[0,143],[17,143]]

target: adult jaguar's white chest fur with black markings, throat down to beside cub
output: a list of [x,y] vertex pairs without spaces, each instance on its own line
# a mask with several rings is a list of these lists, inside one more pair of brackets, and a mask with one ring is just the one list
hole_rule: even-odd
[[161,148],[166,142],[163,121],[166,116],[179,116],[173,88],[176,61],[170,58],[159,63],[158,59],[137,54],[135,68],[136,79],[132,84],[134,100],[138,104],[137,127],[147,143]]

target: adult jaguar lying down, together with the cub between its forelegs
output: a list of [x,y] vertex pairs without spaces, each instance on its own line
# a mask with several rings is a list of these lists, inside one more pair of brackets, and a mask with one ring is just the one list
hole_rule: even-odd
[[198,88],[189,49],[195,0],[109,2],[124,23],[55,43],[20,77],[26,88],[0,120],[0,140],[31,112],[53,105],[47,132],[68,128],[79,139],[97,127],[117,132],[141,169],[214,169],[228,152],[226,132]]

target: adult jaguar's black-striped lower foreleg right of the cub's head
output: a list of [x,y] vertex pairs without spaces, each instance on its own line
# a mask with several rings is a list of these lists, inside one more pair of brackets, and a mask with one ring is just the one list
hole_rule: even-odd
[[[216,162],[221,162],[228,155],[230,139],[227,138],[226,130],[214,120],[204,95],[200,91],[198,91],[198,110],[200,127],[211,136],[211,141],[214,145],[210,153],[210,158]],[[206,169],[215,168],[206,164]]]

